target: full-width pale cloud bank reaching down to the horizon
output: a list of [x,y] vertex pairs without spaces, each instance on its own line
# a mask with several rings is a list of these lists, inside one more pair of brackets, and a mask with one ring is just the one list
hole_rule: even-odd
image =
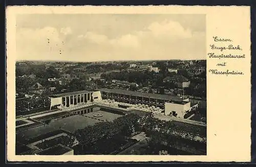
[[[205,32],[185,29],[179,22],[172,20],[152,22],[145,25],[144,29],[126,31],[120,36],[111,36],[104,31],[72,30],[70,27],[18,29],[16,45],[19,59],[103,61],[193,59],[206,56]],[[62,50],[61,55],[59,50]]]

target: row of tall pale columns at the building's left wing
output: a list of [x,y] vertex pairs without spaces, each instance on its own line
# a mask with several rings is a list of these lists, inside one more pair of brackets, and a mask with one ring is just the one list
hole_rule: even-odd
[[[73,96],[66,96],[62,97],[65,98],[65,100],[62,100],[62,106],[70,106],[71,104],[75,105],[75,99],[76,99],[76,105],[77,104],[84,104],[91,101],[92,93],[83,93],[83,94],[76,94]],[[72,103],[71,103],[72,101]]]

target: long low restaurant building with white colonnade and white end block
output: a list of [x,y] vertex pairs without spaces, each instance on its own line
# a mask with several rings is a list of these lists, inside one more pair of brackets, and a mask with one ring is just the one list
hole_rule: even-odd
[[164,110],[165,115],[172,115],[184,118],[184,115],[191,110],[189,99],[183,99],[166,94],[144,93],[124,89],[102,88],[97,91],[76,91],[55,94],[51,97],[51,107],[72,107],[76,105],[92,104],[92,102],[103,99],[115,100],[128,104],[142,104],[155,106]]

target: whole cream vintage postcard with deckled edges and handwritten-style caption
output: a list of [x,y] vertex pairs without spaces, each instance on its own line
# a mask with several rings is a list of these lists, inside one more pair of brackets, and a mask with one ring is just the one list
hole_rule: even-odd
[[249,7],[6,16],[9,161],[250,161]]

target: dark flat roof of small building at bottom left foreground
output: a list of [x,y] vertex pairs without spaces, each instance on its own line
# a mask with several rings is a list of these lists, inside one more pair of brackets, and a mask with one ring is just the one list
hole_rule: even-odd
[[63,155],[69,151],[72,151],[72,149],[63,146],[61,144],[58,144],[56,146],[50,147],[48,149],[42,150],[38,153],[36,153],[37,155]]

